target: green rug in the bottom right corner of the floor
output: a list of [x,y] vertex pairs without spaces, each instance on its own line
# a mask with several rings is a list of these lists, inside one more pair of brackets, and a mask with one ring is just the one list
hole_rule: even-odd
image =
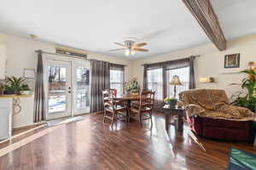
[[228,170],[256,170],[256,155],[235,148],[230,149]]

